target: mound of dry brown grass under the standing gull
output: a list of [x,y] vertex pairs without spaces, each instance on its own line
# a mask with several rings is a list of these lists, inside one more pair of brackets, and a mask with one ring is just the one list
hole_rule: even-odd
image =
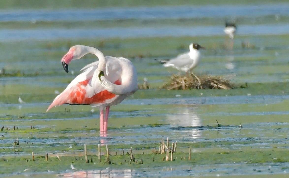
[[187,89],[231,89],[234,85],[230,80],[215,76],[173,75],[160,89],[187,90]]

